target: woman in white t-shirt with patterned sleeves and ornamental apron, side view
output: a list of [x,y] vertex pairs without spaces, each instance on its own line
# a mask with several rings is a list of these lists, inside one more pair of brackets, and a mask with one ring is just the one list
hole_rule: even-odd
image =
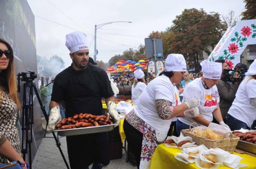
[[172,83],[180,82],[186,71],[183,55],[168,55],[165,65],[166,70],[146,86],[136,107],[124,120],[124,133],[139,169],[150,167],[155,148],[165,142],[172,118],[198,115],[188,110],[198,106],[197,98],[175,106],[176,91]]

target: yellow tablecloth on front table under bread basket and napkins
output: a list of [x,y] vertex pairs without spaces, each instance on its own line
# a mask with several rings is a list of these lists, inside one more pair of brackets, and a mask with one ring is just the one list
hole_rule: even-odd
[[[181,153],[181,150],[178,148],[170,148],[166,147],[165,144],[161,144],[156,147],[155,152],[151,158],[150,169],[196,169],[195,163],[183,163],[178,161],[174,156],[178,155],[177,153]],[[241,169],[256,169],[256,157],[250,156],[248,154],[238,154],[240,157],[244,158],[241,160],[242,164],[249,165],[248,167],[244,167]],[[219,169],[230,169],[227,166],[220,166]]]

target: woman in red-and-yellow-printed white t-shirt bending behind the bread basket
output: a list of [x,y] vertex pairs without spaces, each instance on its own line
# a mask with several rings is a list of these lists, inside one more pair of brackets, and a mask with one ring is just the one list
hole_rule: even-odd
[[[177,132],[180,135],[181,130],[189,129],[192,122],[196,122],[198,126],[204,125],[209,127],[213,116],[220,125],[228,127],[223,122],[219,108],[219,94],[215,84],[218,83],[222,74],[222,63],[209,62],[204,60],[200,63],[202,66],[203,77],[196,78],[188,83],[183,92],[182,103],[187,99],[197,97],[199,99],[199,116],[196,118],[178,118],[176,121]],[[193,125],[194,127],[195,125]],[[230,130],[230,129],[229,129]]]

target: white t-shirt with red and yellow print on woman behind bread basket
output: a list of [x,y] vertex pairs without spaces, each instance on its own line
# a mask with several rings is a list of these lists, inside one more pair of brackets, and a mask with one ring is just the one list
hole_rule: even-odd
[[[204,119],[210,122],[213,121],[212,112],[217,108],[217,105],[219,104],[219,93],[216,85],[210,89],[205,89],[201,78],[196,78],[187,84],[183,93],[182,103],[186,102],[188,99],[197,97],[199,100],[199,113],[203,116]],[[202,124],[193,120],[192,118],[178,118],[178,120],[187,125],[190,125],[192,122],[196,122],[198,126],[202,126]]]

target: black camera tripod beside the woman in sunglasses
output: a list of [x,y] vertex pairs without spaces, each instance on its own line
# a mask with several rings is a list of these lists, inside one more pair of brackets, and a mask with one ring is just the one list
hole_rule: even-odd
[[[31,159],[31,143],[33,142],[32,137],[32,124],[34,124],[34,118],[33,118],[33,91],[36,93],[38,102],[40,104],[40,107],[43,111],[44,117],[46,119],[46,122],[48,124],[48,115],[46,113],[45,107],[42,104],[42,101],[39,97],[38,91],[36,89],[36,83],[33,82],[34,78],[37,77],[37,75],[34,72],[29,72],[30,77],[27,77],[25,72],[18,73],[18,92],[20,92],[20,80],[25,81],[26,83],[23,84],[23,100],[22,100],[22,149],[21,152],[23,154],[23,160],[26,160],[26,154],[28,153],[27,146],[29,147],[29,165],[30,168],[32,168],[32,159]],[[20,78],[22,76],[22,78]],[[28,96],[26,94],[26,89],[28,88]],[[27,103],[27,97],[28,97],[28,103]],[[26,132],[26,145],[24,145],[24,132]],[[53,137],[56,141],[56,145],[59,148],[60,154],[62,155],[62,158],[66,164],[66,167],[69,169],[68,163],[66,162],[65,156],[62,152],[62,149],[60,148],[60,142],[57,140],[55,133],[52,131]],[[30,135],[30,137],[29,137]]]

